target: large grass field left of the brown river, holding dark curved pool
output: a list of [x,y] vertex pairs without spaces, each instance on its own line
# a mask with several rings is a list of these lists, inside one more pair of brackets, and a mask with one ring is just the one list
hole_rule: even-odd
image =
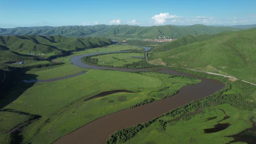
[[[43,79],[48,74],[54,76],[51,72],[55,70],[56,73],[59,73],[59,71],[66,74],[70,73],[71,71],[68,71],[67,67],[69,66],[64,65],[50,69],[40,68],[40,70],[31,70],[30,72],[38,74],[38,77]],[[79,69],[76,70],[79,71]],[[4,108],[42,116],[39,120],[25,126],[19,135],[23,137],[24,143],[45,144],[52,143],[61,135],[67,134],[98,117],[128,108],[150,98],[151,95],[149,94],[153,91],[170,87],[166,90],[170,92],[180,89],[184,85],[198,82],[199,80],[181,77],[168,78],[167,75],[158,73],[138,74],[89,70],[85,74],[70,79],[35,83]],[[24,83],[24,85],[29,84]],[[128,89],[135,93],[120,92],[83,101],[88,96],[114,89]],[[18,89],[16,90],[18,91]],[[15,92],[12,91],[9,95]],[[157,97],[155,96],[155,98]],[[0,112],[0,129],[3,129],[0,137],[4,138],[1,139],[3,144],[7,142],[5,138],[9,135],[5,132],[26,120],[21,116],[21,119],[17,121],[17,117],[6,117],[5,115],[6,112]]]

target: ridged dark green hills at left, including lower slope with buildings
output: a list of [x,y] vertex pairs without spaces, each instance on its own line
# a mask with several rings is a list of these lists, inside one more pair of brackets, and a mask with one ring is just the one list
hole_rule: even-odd
[[113,44],[106,38],[74,38],[64,36],[0,36],[0,60],[35,60],[38,55],[28,55],[28,52],[58,55]]

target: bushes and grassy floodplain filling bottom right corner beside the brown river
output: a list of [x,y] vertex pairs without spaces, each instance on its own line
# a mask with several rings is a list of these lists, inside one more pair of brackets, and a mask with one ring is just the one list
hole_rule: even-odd
[[[217,76],[210,77],[219,79]],[[256,102],[249,102],[246,99],[255,96],[256,88],[241,81],[222,81],[226,81],[226,86],[219,92],[171,110],[149,122],[116,131],[109,137],[107,144],[183,144],[208,143],[209,140],[213,144],[219,144],[232,141],[232,137],[226,136],[238,134],[252,127],[249,119],[255,116]],[[203,110],[196,112],[200,108]],[[224,119],[224,116],[230,117]],[[210,117],[217,118],[209,120]],[[204,134],[204,129],[213,128],[217,122],[228,123],[229,126],[222,131]]]

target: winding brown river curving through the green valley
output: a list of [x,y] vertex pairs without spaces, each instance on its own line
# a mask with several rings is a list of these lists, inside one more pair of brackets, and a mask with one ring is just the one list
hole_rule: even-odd
[[[148,50],[148,49],[146,49]],[[113,52],[102,52],[113,53]],[[120,53],[120,52],[119,52]],[[100,53],[90,53],[80,56],[75,56],[70,59],[73,65],[82,68],[93,68],[102,70],[118,70],[125,72],[132,71],[150,71],[148,68],[142,69],[124,69],[113,67],[101,67],[95,65],[84,64],[81,58],[89,55],[96,55]],[[107,116],[100,117],[86,125],[76,129],[75,131],[60,137],[54,144],[103,144],[106,142],[109,135],[113,132],[127,128],[132,125],[147,122],[155,117],[161,116],[163,113],[171,109],[188,104],[205,96],[211,95],[214,92],[222,89],[224,84],[218,80],[206,79],[188,73],[182,73],[165,68],[159,68],[159,72],[175,75],[183,75],[190,77],[197,77],[202,82],[195,85],[183,86],[180,91],[169,98],[159,101],[151,102],[149,104],[141,105],[134,108],[127,108]]]

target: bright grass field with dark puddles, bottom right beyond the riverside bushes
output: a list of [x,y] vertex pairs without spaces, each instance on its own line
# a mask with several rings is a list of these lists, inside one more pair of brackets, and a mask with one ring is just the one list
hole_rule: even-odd
[[[221,123],[230,123],[231,125],[219,132],[204,134],[204,129],[213,128],[218,121],[222,120],[225,114],[230,118]],[[222,104],[204,108],[200,113],[189,117],[167,123],[165,127],[158,121],[149,127],[138,132],[134,138],[128,140],[125,144],[224,144],[234,140],[229,135],[237,134],[246,128],[251,128],[250,117],[255,116],[255,111],[240,110],[229,104]],[[208,120],[209,117],[216,119]],[[162,117],[161,120],[167,120],[168,117]],[[244,121],[246,120],[246,121]],[[254,119],[254,121],[256,121]],[[122,144],[122,143],[117,143]],[[236,143],[238,144],[238,143]],[[242,144],[242,143],[239,143]]]

